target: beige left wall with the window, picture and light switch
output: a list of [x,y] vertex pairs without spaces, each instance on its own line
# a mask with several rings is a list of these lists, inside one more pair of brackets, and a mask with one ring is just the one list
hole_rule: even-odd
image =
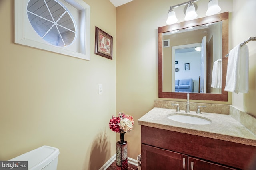
[[[0,0],[0,160],[50,145],[58,170],[98,170],[116,153],[116,7],[84,1],[90,61],[14,44],[14,0]],[[94,54],[95,26],[113,36],[113,60]]]

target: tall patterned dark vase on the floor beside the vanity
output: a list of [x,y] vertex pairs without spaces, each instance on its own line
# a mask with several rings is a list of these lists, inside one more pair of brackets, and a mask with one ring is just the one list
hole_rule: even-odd
[[116,170],[128,170],[127,142],[124,131],[120,131],[120,140],[116,142]]

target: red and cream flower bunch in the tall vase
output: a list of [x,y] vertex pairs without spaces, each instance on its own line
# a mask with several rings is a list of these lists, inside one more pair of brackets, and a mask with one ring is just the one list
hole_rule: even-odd
[[131,115],[119,112],[117,117],[112,116],[109,121],[109,128],[118,133],[126,133],[132,131],[134,120]]

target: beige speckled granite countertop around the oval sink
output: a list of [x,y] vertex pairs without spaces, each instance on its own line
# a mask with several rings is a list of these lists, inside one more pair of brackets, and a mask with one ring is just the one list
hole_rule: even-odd
[[[194,125],[188,123],[180,123],[168,119],[172,114],[190,114],[192,116],[200,116],[210,119],[212,123],[207,125]],[[196,114],[195,111],[185,113],[185,111],[176,112],[174,109],[153,108],[140,119],[139,125],[155,127],[181,133],[188,133],[202,137],[209,137],[246,145],[256,146],[256,135],[248,131],[240,122],[236,121],[230,115],[205,113]]]

